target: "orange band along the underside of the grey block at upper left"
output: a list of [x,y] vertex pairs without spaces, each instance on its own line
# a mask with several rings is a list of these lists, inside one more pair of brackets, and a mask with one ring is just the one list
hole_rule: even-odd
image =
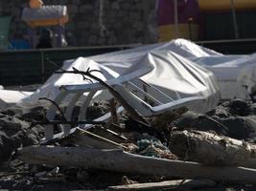
[[35,27],[45,27],[45,26],[55,26],[63,25],[68,22],[68,16],[63,16],[62,18],[51,18],[51,19],[38,19],[34,21],[28,21],[28,25],[32,28]]

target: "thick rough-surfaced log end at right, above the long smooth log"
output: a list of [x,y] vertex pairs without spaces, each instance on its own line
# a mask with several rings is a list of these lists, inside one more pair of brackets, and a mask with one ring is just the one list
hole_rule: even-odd
[[201,131],[175,131],[170,150],[180,159],[208,165],[256,168],[256,144]]

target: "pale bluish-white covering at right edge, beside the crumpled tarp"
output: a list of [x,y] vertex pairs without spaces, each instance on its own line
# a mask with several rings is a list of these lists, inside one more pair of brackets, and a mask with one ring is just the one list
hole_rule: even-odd
[[216,75],[221,99],[248,99],[255,90],[256,54],[215,55],[191,60]]

